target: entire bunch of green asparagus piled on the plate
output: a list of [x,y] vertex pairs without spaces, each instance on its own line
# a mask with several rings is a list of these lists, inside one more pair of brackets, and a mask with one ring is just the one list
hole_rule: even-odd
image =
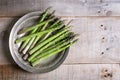
[[64,51],[78,40],[75,39],[76,34],[70,31],[69,23],[65,24],[64,20],[55,17],[54,13],[55,11],[50,12],[50,8],[47,8],[36,25],[22,28],[18,32],[18,35],[25,35],[16,39],[15,43],[21,43],[20,53],[27,48],[23,59],[32,66]]

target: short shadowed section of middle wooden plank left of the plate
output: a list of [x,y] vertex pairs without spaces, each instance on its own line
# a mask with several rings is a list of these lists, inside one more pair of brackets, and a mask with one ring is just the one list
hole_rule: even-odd
[[0,18],[0,64],[13,63],[9,51],[9,34],[18,18]]

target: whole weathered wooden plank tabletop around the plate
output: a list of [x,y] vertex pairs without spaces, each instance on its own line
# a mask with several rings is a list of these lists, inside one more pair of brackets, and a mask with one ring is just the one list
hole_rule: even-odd
[[[24,14],[52,6],[73,19],[79,41],[65,62],[45,74],[31,74],[13,61],[10,29]],[[120,80],[120,0],[0,0],[0,80]]]

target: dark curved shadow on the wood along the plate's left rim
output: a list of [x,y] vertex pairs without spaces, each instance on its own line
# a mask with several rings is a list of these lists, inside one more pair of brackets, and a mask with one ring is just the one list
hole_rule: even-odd
[[5,30],[1,32],[2,33],[2,49],[4,53],[3,55],[6,56],[7,61],[11,64],[14,64],[15,62],[13,61],[12,56],[10,54],[10,50],[9,50],[9,35],[13,25],[16,23],[17,20],[18,18],[11,20],[11,22],[7,24]]

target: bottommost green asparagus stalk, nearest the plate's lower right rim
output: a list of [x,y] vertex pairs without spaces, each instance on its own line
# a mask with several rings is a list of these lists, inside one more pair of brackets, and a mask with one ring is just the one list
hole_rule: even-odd
[[36,66],[37,64],[40,63],[40,61],[45,60],[45,59],[47,59],[47,58],[49,58],[49,57],[51,57],[51,56],[53,56],[53,55],[58,54],[59,52],[61,52],[61,51],[63,51],[63,50],[65,50],[66,48],[68,48],[68,47],[70,47],[71,45],[73,45],[77,40],[78,40],[78,39],[70,42],[69,44],[67,44],[67,45],[65,45],[65,46],[62,46],[62,47],[60,47],[60,48],[51,50],[49,53],[46,53],[46,55],[43,55],[43,56],[41,56],[39,59],[37,59],[36,61],[32,62],[32,63],[31,63],[32,66]]

